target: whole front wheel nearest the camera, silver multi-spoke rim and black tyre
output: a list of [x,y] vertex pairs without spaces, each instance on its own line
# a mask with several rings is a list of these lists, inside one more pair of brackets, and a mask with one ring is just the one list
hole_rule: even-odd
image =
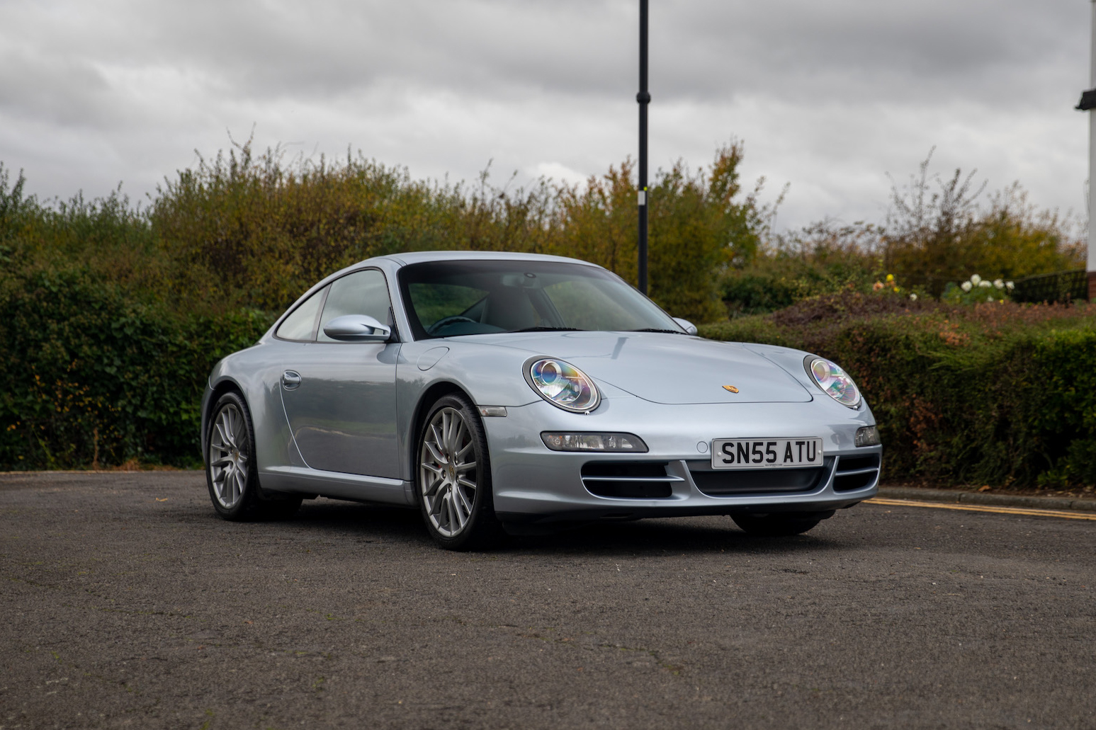
[[439,398],[415,444],[415,493],[434,541],[447,550],[498,544],[504,533],[494,515],[487,435],[472,404],[456,393]]

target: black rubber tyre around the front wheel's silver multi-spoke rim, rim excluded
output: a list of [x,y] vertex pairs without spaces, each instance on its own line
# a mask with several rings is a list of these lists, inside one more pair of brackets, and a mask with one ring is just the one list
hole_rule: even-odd
[[[476,454],[476,500],[472,503],[471,514],[468,524],[460,534],[454,537],[446,537],[438,533],[430,521],[426,497],[422,492],[422,477],[420,460],[422,459],[422,445],[426,437],[426,429],[443,408],[452,408],[460,413],[472,440],[472,450]],[[491,487],[491,460],[488,454],[487,433],[483,424],[479,420],[479,413],[475,407],[464,397],[450,393],[438,398],[430,407],[426,418],[419,429],[419,437],[414,446],[414,489],[419,501],[419,512],[422,514],[426,531],[441,547],[449,550],[464,550],[475,547],[486,547],[498,538],[501,533],[498,520],[494,516],[494,498]]]

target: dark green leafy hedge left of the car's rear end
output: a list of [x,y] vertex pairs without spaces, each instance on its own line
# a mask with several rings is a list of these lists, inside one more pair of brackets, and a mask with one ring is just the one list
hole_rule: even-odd
[[85,270],[4,282],[0,469],[197,464],[210,368],[271,321],[138,304]]

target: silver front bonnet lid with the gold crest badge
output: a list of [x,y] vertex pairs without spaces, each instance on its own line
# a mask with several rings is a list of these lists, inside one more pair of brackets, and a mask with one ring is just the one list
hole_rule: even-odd
[[[658,332],[536,332],[452,338],[559,357],[655,403],[804,402],[786,370],[735,342]],[[732,386],[738,392],[723,386]]]

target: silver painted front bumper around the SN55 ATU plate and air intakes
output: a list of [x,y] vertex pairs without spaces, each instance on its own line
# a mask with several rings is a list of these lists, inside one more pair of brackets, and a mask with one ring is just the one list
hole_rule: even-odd
[[[807,403],[701,403],[669,406],[639,398],[603,401],[592,414],[561,411],[547,402],[512,407],[506,418],[484,418],[491,457],[494,510],[509,527],[596,520],[637,520],[743,512],[830,512],[874,497],[876,469],[856,469],[860,457],[881,447],[856,447],[856,430],[872,425],[865,406],[858,411],[815,399]],[[646,454],[552,452],[543,431],[628,432],[649,447]],[[803,489],[780,484],[757,491],[713,495],[697,484],[695,472],[710,471],[713,438],[817,436],[823,440],[823,472]],[[704,450],[701,450],[704,449]],[[853,459],[856,459],[855,461]],[[842,461],[847,465],[845,467]],[[601,497],[583,482],[583,466],[650,463],[664,465],[669,494],[657,499]],[[783,470],[773,470],[777,474]],[[728,474],[728,472],[722,472]],[[587,477],[589,479],[589,477]],[[778,477],[774,477],[778,481]],[[587,482],[589,483],[589,482]],[[850,488],[852,484],[852,488]]]

